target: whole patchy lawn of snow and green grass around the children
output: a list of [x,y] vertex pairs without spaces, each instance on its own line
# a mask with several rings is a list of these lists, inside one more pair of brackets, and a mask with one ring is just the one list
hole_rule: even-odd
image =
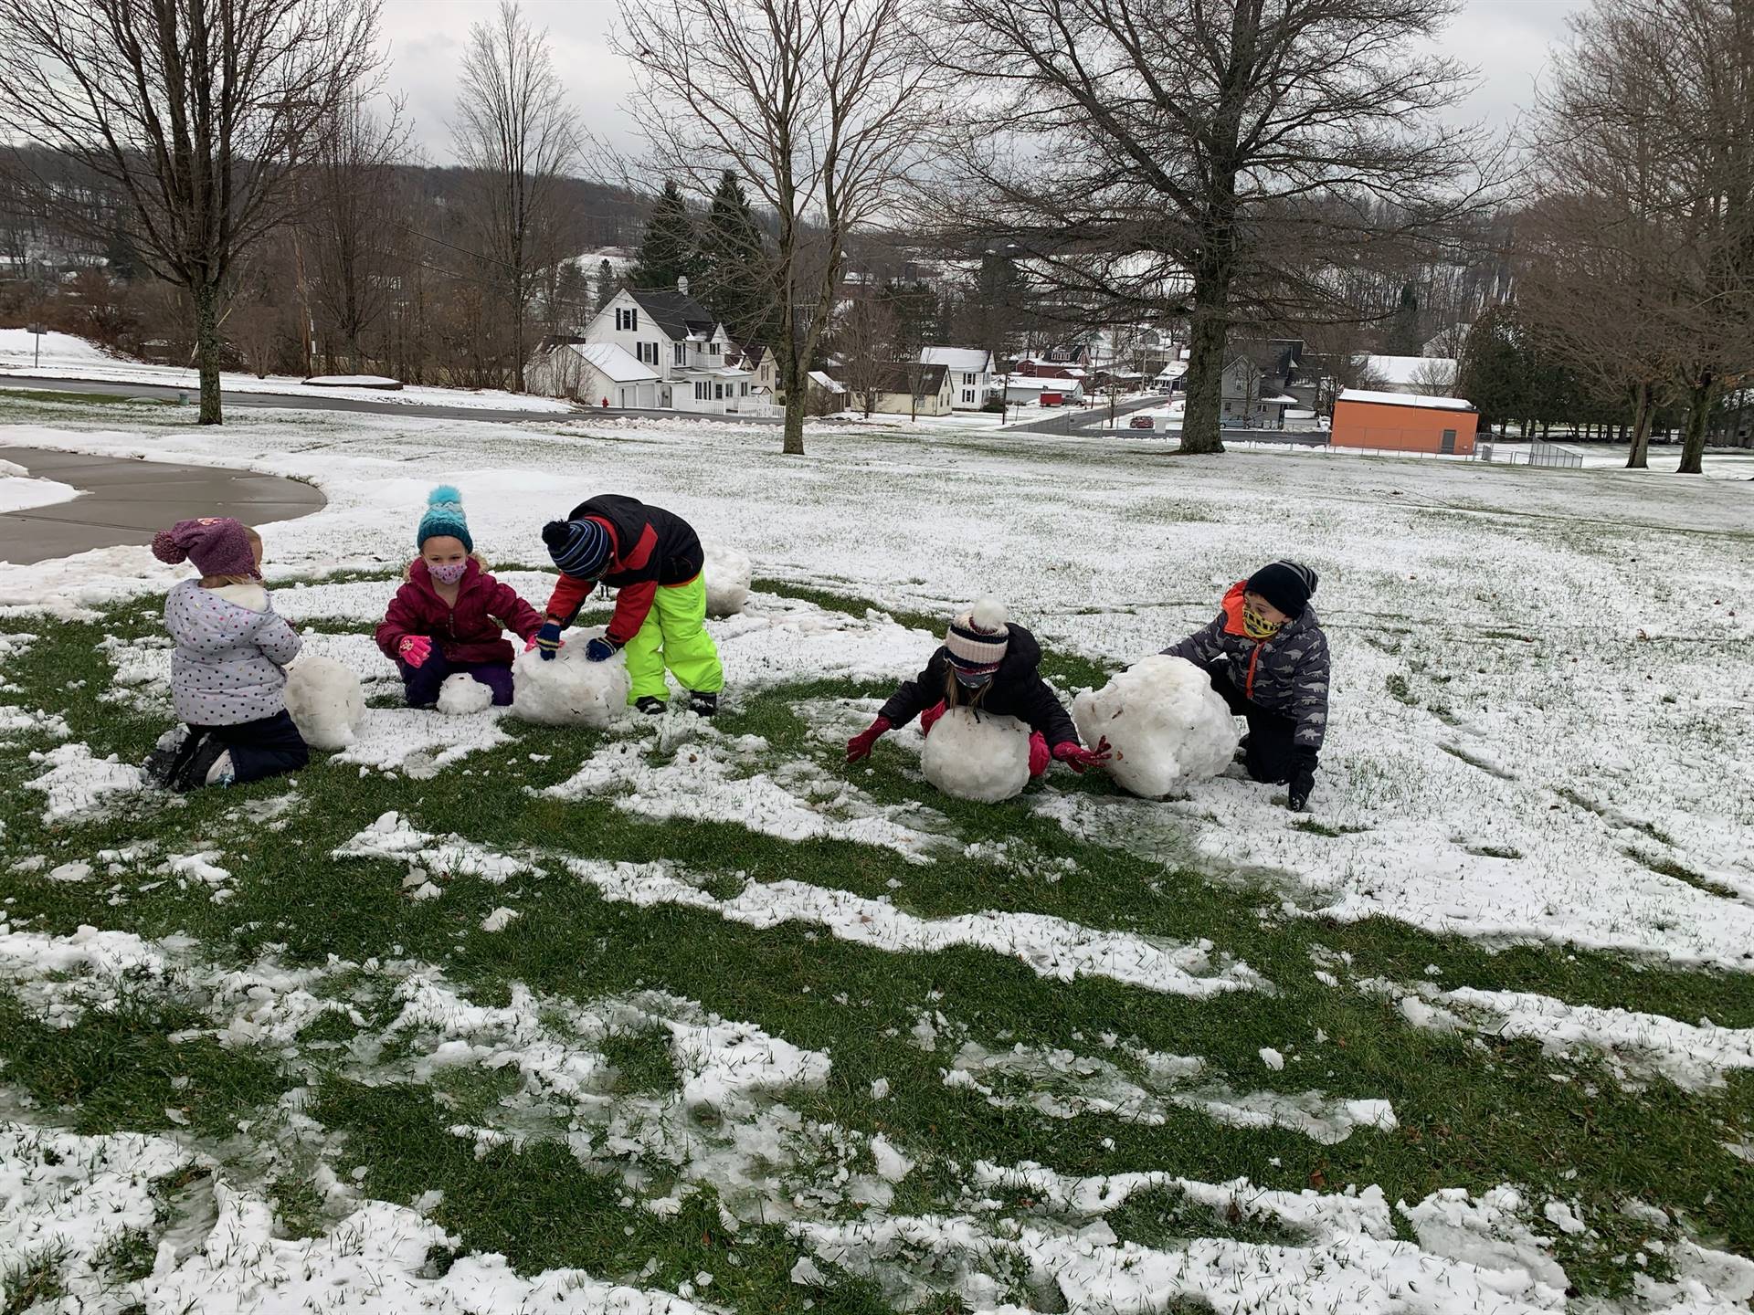
[[[111,549],[0,580],[9,1301],[1754,1294],[1749,486],[975,430],[781,463],[759,426],[116,421],[0,442],[314,479],[323,512],[265,526],[277,607],[372,707],[296,780],[149,794],[175,572]],[[747,552],[745,614],[710,622],[724,715],[396,707],[365,635],[440,480],[538,603],[537,526],[602,487]],[[1307,819],[1233,777],[952,800],[912,729],[838,761],[952,603],[1005,596],[1070,696],[1291,552],[1337,670]]]

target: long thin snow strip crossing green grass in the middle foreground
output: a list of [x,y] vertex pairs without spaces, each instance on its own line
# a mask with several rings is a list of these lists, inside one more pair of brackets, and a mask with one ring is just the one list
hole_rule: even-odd
[[568,859],[567,866],[605,899],[682,905],[752,928],[807,922],[828,929],[838,940],[891,954],[933,954],[972,945],[1014,957],[1040,977],[1059,982],[1107,977],[1147,991],[1194,998],[1249,991],[1261,984],[1261,977],[1245,963],[1223,954],[1214,963],[1214,945],[1209,940],[1175,945],[1124,931],[1096,931],[1045,913],[986,910],[924,919],[882,899],[793,880],[751,880],[738,894],[719,899],[658,863]]

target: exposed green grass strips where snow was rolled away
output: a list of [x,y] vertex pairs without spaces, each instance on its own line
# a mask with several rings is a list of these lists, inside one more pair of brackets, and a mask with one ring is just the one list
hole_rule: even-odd
[[[826,598],[772,582],[763,587]],[[840,596],[833,605],[868,607]],[[931,617],[898,621],[940,624]],[[39,629],[18,621],[0,626]],[[139,603],[96,624],[40,629],[42,638],[7,663],[7,679],[19,686],[9,700],[61,712],[74,736],[96,754],[135,759],[163,724],[102,701],[109,663],[96,643],[105,635],[128,640],[154,631],[151,610]],[[765,763],[809,757],[838,771],[833,749],[810,735],[795,705],[873,693],[873,686],[847,680],[747,693],[719,729],[763,736],[770,745]],[[881,1133],[903,1147],[917,1168],[896,1187],[891,1208],[898,1212],[954,1210],[977,1159],[1037,1161],[1068,1175],[1166,1169],[1207,1182],[1247,1176],[1289,1191],[1379,1184],[1389,1201],[1417,1201],[1440,1187],[1486,1191],[1517,1182],[1537,1203],[1549,1196],[1575,1201],[1601,1234],[1600,1245],[1566,1243],[1563,1252],[1584,1294],[1624,1290],[1629,1271],[1614,1257],[1654,1236],[1626,1213],[1626,1199],[1682,1210],[1705,1236],[1754,1250],[1745,1166],[1721,1148],[1754,1138],[1754,1077],[1735,1075],[1701,1092],[1661,1080],[1622,1087],[1603,1064],[1558,1059],[1535,1043],[1414,1029],[1389,1001],[1345,982],[1326,987],[1312,968],[1317,957],[1331,963],[1328,956],[1351,954],[1349,971],[1358,977],[1412,982],[1433,966],[1445,987],[1538,991],[1687,1020],[1710,1017],[1726,1027],[1754,1026],[1754,980],[1745,975],[1684,971],[1580,949],[1489,952],[1472,940],[1386,919],[1286,919],[1268,912],[1279,908],[1279,898],[1265,887],[1209,880],[1196,870],[1077,840],[1031,810],[1033,794],[995,807],[937,796],[891,743],[879,743],[868,771],[851,773],[872,801],[923,803],[945,819],[959,843],[1005,842],[1005,854],[951,849],[944,861],[916,864],[884,849],[788,843],[733,822],[656,824],[607,800],[570,803],[531,793],[567,780],[603,736],[517,722],[507,729],[512,743],[430,782],[360,777],[317,761],[293,785],[261,782],[175,803],[139,800],[67,828],[46,828],[40,796],[23,789],[40,771],[28,752],[47,742],[0,745],[0,821],[9,854],[42,854],[53,866],[89,861],[96,850],[128,842],[158,847],[123,873],[82,884],[49,884],[0,868],[0,898],[11,901],[9,917],[32,931],[65,935],[89,922],[147,938],[184,935],[219,966],[244,968],[263,956],[312,968],[328,964],[330,956],[360,964],[419,961],[442,970],[449,985],[481,1006],[505,1006],[514,984],[553,1003],[589,1005],[644,991],[698,1001],[709,1013],[831,1056],[823,1087],[788,1089],[777,1099],[805,1124]],[[547,761],[533,763],[531,754]],[[240,805],[288,789],[296,789],[298,803],[286,829],[265,831],[242,815]],[[1056,773],[1054,789],[1114,787],[1100,777]],[[540,871],[503,885],[453,877],[440,899],[412,901],[402,887],[403,863],[330,856],[391,808],[428,831],[533,852]],[[1312,819],[1298,826],[1317,836],[1342,835]],[[214,905],[205,887],[184,887],[153,871],[167,854],[209,847],[225,850],[219,863],[233,873],[228,903]],[[565,871],[565,856],[670,863],[698,873],[721,899],[747,880],[789,878],[889,898],[921,917],[1031,912],[1165,942],[1205,936],[1216,954],[1247,961],[1273,989],[1198,1001],[1096,977],[1059,982],[984,950],[888,954],[800,922],[756,929],[710,910],[609,903]],[[523,917],[502,933],[481,931],[482,917],[500,905]],[[710,1143],[724,1131],[714,1117],[740,1117],[679,1112],[681,1073],[661,1031],[614,1031],[588,1047],[610,1075],[600,1091],[607,1113],[588,1115],[596,1106],[574,1108],[553,1092],[535,1099],[516,1064],[456,1064],[423,1080],[416,1068],[431,1047],[417,1031],[398,1034],[375,1066],[361,1070],[354,1043],[382,1038],[402,1008],[391,985],[367,970],[324,978],[314,991],[351,1003],[365,1026],[323,1013],[300,1031],[295,1047],[223,1047],[191,1034],[210,1027],[198,1001],[151,980],[130,984],[114,1006],[88,1008],[63,1029],[42,1022],[23,996],[0,994],[0,1082],[75,1131],[186,1127],[233,1147],[239,1120],[268,1127],[282,1096],[309,1087],[307,1108],[333,1147],[337,1173],[365,1168],[365,1191],[389,1201],[442,1191],[433,1219],[465,1250],[505,1252],[523,1271],[575,1264],[672,1289],[710,1271],[716,1282],[707,1299],[740,1310],[803,1310],[805,1301],[817,1311],[888,1308],[879,1287],[865,1280],[837,1276],[817,1290],[791,1283],[796,1241],[777,1222],[726,1233],[710,1192],[684,1196],[674,1215],[640,1208],[640,1199],[677,1187],[674,1162],[644,1152],[568,1150],[563,1138],[572,1129],[602,1147],[607,1119],[674,1115],[689,1138]],[[926,1010],[942,1012],[949,1024],[935,1052],[921,1050],[910,1034]],[[963,1040],[988,1050],[1021,1041],[1119,1063],[1123,1052],[1105,1048],[1105,1034],[1203,1056],[1205,1077],[1238,1091],[1387,1098],[1400,1127],[1358,1131],[1323,1147],[1291,1131],[1230,1127],[1182,1108],[1168,1110],[1158,1126],[1100,1113],[1052,1119],[1031,1108],[995,1108],[942,1080]],[[1268,1045],[1291,1057],[1282,1071],[1261,1064],[1258,1050]],[[889,1084],[888,1098],[872,1096],[879,1078]],[[472,1140],[449,1131],[454,1124],[505,1126],[528,1140],[477,1155]],[[788,1185],[809,1185],[835,1164],[805,1140],[798,1162],[784,1169]],[[317,1236],[335,1222],[303,1169],[282,1168],[256,1187],[274,1203],[286,1236]],[[624,1205],[630,1199],[635,1205]],[[1009,1208],[1028,1213],[1037,1206],[1012,1201]],[[1142,1245],[1193,1236],[1287,1241],[1270,1222],[1242,1213],[1214,1217],[1165,1192],[1140,1194],[1109,1220],[1121,1238]],[[118,1243],[107,1261],[126,1271],[140,1262],[140,1245]],[[32,1275],[39,1269],[42,1264]]]

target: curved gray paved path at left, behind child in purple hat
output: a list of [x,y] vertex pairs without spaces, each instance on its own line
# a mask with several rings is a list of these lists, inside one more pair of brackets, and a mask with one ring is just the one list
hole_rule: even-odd
[[235,515],[244,524],[293,521],[321,510],[309,484],[247,470],[174,466],[163,461],[0,447],[39,479],[56,479],[81,496],[53,507],[0,515],[0,561],[25,565],[119,544],[151,544],[172,521]]

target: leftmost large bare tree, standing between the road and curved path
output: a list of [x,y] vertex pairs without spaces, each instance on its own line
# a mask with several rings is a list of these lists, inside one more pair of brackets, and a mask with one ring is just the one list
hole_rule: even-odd
[[[223,419],[226,275],[284,223],[319,124],[377,68],[377,11],[379,0],[0,0],[0,126],[123,193],[116,226],[193,302],[202,424]],[[42,196],[60,202],[53,188]]]

